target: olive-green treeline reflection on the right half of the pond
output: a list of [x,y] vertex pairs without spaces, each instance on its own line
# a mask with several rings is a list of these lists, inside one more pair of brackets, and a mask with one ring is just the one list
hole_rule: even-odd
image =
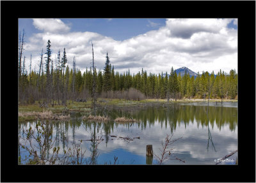
[[[168,111],[166,111],[168,110]],[[189,123],[197,123],[197,126],[202,125],[202,127],[208,127],[208,123],[211,124],[211,127],[214,127],[214,123],[217,125],[218,129],[221,130],[221,127],[228,125],[230,131],[234,131],[237,126],[237,110],[232,107],[209,107],[209,120],[207,120],[207,106],[181,106],[181,105],[172,105],[169,109],[166,108],[154,108],[150,107],[143,111],[138,111],[134,114],[134,118],[141,120],[141,129],[145,128],[148,122],[148,125],[154,125],[156,121],[161,123],[163,127],[166,122],[171,127],[171,131],[175,130],[177,125],[183,123],[185,127]]]

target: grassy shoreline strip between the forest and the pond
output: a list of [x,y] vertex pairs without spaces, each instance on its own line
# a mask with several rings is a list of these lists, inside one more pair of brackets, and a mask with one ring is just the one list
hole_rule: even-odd
[[[207,102],[208,100],[204,99],[182,99],[182,100],[170,100],[169,104],[175,103],[192,103],[192,102]],[[209,102],[221,102],[221,99],[210,99]],[[237,100],[222,100],[222,102],[237,102]],[[54,101],[56,104],[57,101]],[[124,100],[124,99],[98,99],[97,104],[100,107],[140,107],[143,108],[149,105],[157,105],[157,104],[166,104],[166,99],[145,99],[140,101],[134,100]],[[73,102],[72,100],[67,101],[67,108],[62,105],[54,105],[51,107],[40,107],[38,101],[35,104],[27,104],[27,105],[19,105],[19,122],[26,122],[29,120],[37,120],[37,119],[50,119],[50,120],[68,120],[69,118],[65,117],[67,115],[63,114],[63,112],[67,111],[72,112],[84,112],[90,113],[91,111],[91,101],[87,102]],[[51,114],[50,114],[51,113]]]

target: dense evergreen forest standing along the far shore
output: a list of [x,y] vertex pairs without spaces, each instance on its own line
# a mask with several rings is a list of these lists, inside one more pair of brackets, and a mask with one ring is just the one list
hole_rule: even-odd
[[[23,32],[24,33],[24,32]],[[24,35],[24,34],[23,34]],[[66,104],[67,100],[89,99],[93,90],[93,68],[81,72],[76,67],[67,65],[65,48],[58,52],[57,58],[51,56],[51,42],[47,42],[46,52],[42,49],[39,71],[31,70],[31,58],[22,58],[24,54],[24,36],[19,35],[19,102],[33,104],[35,100],[45,100],[52,103]],[[30,61],[29,71],[25,63]],[[147,73],[141,68],[137,74],[129,70],[124,73],[115,71],[111,65],[108,53],[104,70],[95,69],[97,81],[97,97],[116,99],[237,99],[237,73],[230,70],[225,73],[220,70],[216,77],[214,72],[203,72],[195,78],[185,74],[177,76],[173,68],[164,75]],[[126,93],[125,93],[126,92]],[[210,93],[210,95],[209,95]],[[132,97],[131,97],[132,95]]]

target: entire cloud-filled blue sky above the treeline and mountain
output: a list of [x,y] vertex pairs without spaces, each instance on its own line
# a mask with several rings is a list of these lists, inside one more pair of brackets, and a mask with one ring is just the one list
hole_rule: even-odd
[[[36,68],[40,52],[51,40],[52,59],[66,48],[68,64],[90,68],[92,47],[98,69],[106,52],[118,72],[194,72],[237,70],[237,19],[19,19],[25,30],[26,58]],[[26,63],[29,65],[29,63]],[[28,68],[28,67],[27,67]]]

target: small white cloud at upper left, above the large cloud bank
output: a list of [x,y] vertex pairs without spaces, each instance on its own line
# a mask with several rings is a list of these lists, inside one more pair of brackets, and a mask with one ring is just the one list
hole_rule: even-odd
[[60,19],[33,19],[36,29],[49,33],[66,33],[70,28]]

